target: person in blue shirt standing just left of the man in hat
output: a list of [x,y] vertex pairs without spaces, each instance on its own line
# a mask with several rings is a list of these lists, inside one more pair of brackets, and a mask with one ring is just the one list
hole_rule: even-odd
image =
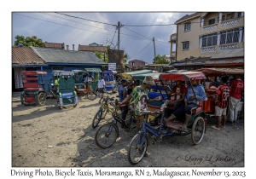
[[[127,79],[122,79],[121,80],[121,84],[119,85],[119,102],[122,102],[125,100],[125,98],[127,97],[127,90],[125,89],[125,86],[128,85],[128,81]],[[125,120],[126,115],[128,113],[128,106],[127,104],[124,104],[123,106],[120,107],[121,109],[121,118],[123,120]],[[124,126],[121,126],[122,129],[124,129]]]

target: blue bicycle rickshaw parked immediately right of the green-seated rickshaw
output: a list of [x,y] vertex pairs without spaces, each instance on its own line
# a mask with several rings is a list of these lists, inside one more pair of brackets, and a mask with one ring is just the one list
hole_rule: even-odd
[[[84,74],[88,74],[89,72],[84,71],[84,70],[73,70],[74,72],[74,78],[75,78],[75,84],[74,84],[74,89],[77,92],[77,95],[79,96],[79,100],[82,100],[82,97],[85,96],[89,100],[95,100],[96,99],[96,92],[91,89],[90,82],[84,83]],[[89,75],[89,74],[88,74]]]

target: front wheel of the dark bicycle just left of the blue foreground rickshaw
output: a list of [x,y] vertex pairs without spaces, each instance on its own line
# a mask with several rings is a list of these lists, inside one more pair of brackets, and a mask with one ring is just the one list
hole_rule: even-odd
[[96,145],[102,149],[111,147],[119,136],[119,129],[117,125],[108,123],[103,124],[95,135]]

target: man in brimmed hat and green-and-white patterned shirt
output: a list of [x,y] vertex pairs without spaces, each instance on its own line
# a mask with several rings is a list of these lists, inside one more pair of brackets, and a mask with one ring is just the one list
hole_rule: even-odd
[[141,127],[141,120],[143,119],[143,114],[139,102],[143,97],[145,97],[145,105],[147,105],[147,102],[150,101],[160,101],[159,97],[156,97],[154,99],[148,99],[148,92],[151,88],[151,86],[154,84],[154,80],[151,76],[146,76],[143,80],[143,85],[137,86],[132,90],[131,95],[128,95],[124,101],[119,102],[119,105],[126,104],[129,101],[129,105],[134,106],[134,112],[137,119],[137,127]]

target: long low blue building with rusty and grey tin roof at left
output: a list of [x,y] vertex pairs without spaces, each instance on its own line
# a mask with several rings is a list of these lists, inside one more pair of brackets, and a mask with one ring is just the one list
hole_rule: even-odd
[[[15,82],[15,89],[23,88],[21,72],[25,70],[47,72],[48,75],[45,79],[45,84],[48,84],[52,78],[53,70],[71,71],[93,68],[96,70],[90,73],[94,75],[94,72],[102,72],[102,66],[108,66],[108,64],[91,52],[54,48],[12,47],[12,67],[14,74],[12,80]],[[99,75],[98,78],[101,78]]]

